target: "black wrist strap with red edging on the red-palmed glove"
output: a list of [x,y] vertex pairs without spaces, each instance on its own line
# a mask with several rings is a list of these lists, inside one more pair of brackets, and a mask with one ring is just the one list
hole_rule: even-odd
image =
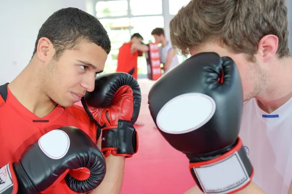
[[107,157],[114,156],[132,157],[138,150],[138,134],[134,122],[119,120],[115,129],[103,129],[101,151]]

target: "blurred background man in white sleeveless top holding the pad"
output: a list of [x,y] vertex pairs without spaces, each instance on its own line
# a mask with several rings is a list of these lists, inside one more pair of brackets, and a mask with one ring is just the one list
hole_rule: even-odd
[[163,64],[164,73],[179,64],[179,59],[176,51],[172,48],[169,40],[165,38],[163,28],[155,28],[151,35],[155,38],[155,43],[161,43],[159,47],[160,60]]

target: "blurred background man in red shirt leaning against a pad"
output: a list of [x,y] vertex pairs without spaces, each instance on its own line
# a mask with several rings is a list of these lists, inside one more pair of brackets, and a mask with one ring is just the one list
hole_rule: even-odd
[[138,79],[138,56],[142,56],[142,52],[147,52],[149,48],[142,43],[143,37],[140,33],[134,33],[130,42],[124,43],[119,49],[117,72],[125,72]]

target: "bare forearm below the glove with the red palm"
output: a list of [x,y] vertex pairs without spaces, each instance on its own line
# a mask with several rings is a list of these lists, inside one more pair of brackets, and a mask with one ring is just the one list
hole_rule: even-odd
[[106,157],[107,173],[101,184],[90,194],[120,194],[123,178],[125,157],[110,156]]

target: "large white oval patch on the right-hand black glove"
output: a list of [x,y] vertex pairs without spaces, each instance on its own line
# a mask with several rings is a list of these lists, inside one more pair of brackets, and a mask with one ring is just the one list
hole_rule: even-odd
[[169,100],[159,111],[156,123],[162,131],[182,134],[199,129],[214,115],[216,103],[200,93],[183,94]]

